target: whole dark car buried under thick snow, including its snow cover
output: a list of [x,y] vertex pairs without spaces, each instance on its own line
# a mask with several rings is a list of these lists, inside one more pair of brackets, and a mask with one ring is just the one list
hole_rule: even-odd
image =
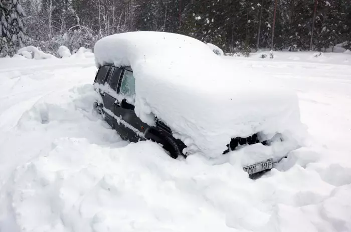
[[99,40],[94,54],[94,108],[123,139],[155,141],[173,158],[226,154],[249,175],[300,146],[295,93],[248,70],[232,74],[196,39],[122,33]]

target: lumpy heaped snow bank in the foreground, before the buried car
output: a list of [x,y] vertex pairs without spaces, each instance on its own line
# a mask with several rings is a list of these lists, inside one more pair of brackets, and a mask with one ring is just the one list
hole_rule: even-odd
[[252,181],[228,164],[171,160],[148,141],[110,148],[57,139],[15,176],[10,207],[28,231],[351,228],[350,184],[335,187],[298,165]]

